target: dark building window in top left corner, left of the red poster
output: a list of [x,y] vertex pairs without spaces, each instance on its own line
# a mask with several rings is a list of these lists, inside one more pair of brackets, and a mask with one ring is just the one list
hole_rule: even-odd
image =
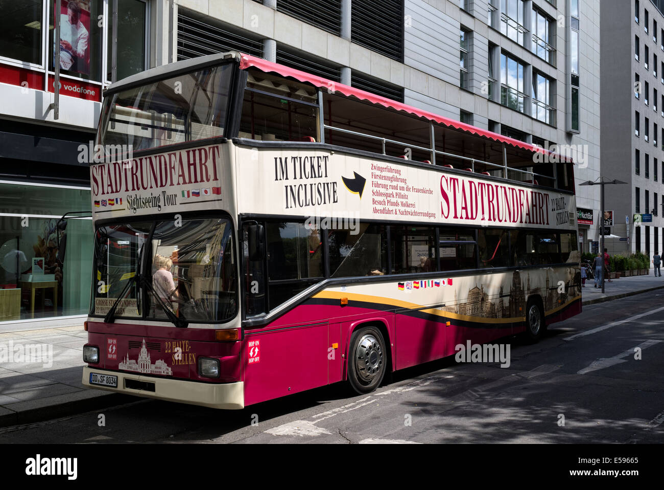
[[3,2],[0,56],[42,64],[42,0]]

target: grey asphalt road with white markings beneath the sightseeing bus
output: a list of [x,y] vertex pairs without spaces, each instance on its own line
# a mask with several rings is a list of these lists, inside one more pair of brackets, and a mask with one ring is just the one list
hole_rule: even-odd
[[647,293],[587,306],[539,344],[502,340],[509,368],[448,358],[369,395],[337,384],[240,411],[137,399],[1,428],[0,443],[661,443],[663,341],[664,292]]

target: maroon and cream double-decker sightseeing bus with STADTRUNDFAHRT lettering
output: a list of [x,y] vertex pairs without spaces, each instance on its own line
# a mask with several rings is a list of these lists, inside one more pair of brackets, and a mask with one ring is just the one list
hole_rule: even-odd
[[573,163],[530,144],[240,53],[113,84],[96,143],[90,388],[365,393],[581,311]]

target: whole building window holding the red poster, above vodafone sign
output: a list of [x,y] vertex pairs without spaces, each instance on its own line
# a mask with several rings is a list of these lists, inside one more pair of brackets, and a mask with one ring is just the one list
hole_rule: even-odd
[[[58,56],[53,53],[55,29],[50,34],[49,67],[54,70],[58,59],[60,73],[102,81],[102,29],[97,19],[104,9],[102,1],[56,0],[60,15],[60,39],[55,43]],[[53,23],[53,11],[49,9],[50,25]]]

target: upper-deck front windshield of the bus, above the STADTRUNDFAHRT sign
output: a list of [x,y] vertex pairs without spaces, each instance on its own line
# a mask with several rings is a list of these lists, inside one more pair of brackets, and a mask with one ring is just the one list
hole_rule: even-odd
[[114,93],[100,143],[138,151],[224,136],[231,78],[226,63]]

